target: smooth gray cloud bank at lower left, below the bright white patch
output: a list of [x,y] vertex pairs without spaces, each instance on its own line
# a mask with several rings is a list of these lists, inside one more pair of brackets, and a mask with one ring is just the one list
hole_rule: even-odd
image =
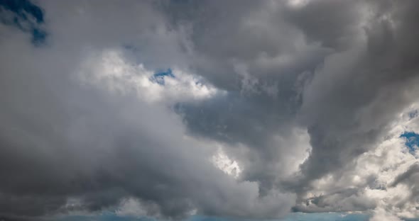
[[166,108],[77,86],[66,73],[50,75],[55,65],[36,67],[42,60],[29,66],[30,76],[9,62],[1,75],[1,102],[8,103],[0,117],[2,214],[65,212],[72,210],[68,198],[79,198],[81,209],[94,211],[138,197],[169,217],[193,209],[261,216],[281,212],[273,205],[289,208],[281,198],[255,198],[256,183],[236,183],[214,168],[205,145],[184,140],[180,120]]

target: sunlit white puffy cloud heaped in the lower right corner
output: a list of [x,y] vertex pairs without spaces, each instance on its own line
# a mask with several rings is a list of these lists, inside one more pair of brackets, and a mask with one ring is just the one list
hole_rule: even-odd
[[[312,190],[295,209],[306,212],[369,211],[379,215],[418,217],[414,182],[418,152],[410,152],[399,135],[418,130],[417,119],[404,110],[387,140],[376,149],[361,154],[341,174],[324,176],[312,184]],[[406,183],[406,184],[403,184]]]

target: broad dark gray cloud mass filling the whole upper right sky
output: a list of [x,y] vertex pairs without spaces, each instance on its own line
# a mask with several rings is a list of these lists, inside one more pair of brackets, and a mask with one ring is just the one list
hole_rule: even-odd
[[[295,181],[282,181],[305,193],[312,181],[344,173],[354,159],[374,149],[396,115],[416,101],[415,93],[406,94],[418,81],[417,33],[411,26],[415,1],[308,1],[296,7],[263,2],[251,12],[237,11],[246,4],[221,9],[207,4],[197,15],[180,18],[192,21],[192,40],[204,61],[197,70],[206,74],[210,69],[206,76],[214,84],[240,96],[189,106],[185,119],[192,132],[256,149],[243,179],[267,188],[281,183],[278,168],[268,165],[281,162],[279,156],[293,147],[271,145],[269,139],[289,137],[287,129],[303,125],[310,135],[310,157]],[[207,13],[214,17],[201,16]],[[292,62],[281,65],[282,57]],[[268,67],[261,58],[276,59],[276,66]],[[244,71],[236,69],[241,64]],[[263,91],[269,84],[277,96]],[[243,96],[249,86],[251,95]],[[371,207],[374,203],[359,208]]]

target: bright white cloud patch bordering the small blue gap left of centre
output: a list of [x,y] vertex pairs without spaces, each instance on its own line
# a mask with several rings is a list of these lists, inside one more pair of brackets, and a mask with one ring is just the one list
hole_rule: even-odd
[[92,53],[80,66],[78,77],[83,83],[112,93],[134,93],[142,101],[170,104],[223,94],[211,85],[202,84],[200,77],[180,69],[170,69],[171,76],[156,79],[156,71],[146,69],[141,63],[131,64],[120,50]]

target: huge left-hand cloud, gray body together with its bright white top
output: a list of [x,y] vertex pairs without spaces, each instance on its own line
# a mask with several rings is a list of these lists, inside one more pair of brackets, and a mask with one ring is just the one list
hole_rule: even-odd
[[1,214],[113,210],[126,198],[162,217],[276,217],[293,205],[293,193],[259,197],[258,183],[212,165],[215,142],[187,136],[170,107],[212,96],[209,84],[174,69],[163,86],[114,47],[98,50],[104,42],[76,45],[58,32],[37,48],[21,34],[1,43]]

